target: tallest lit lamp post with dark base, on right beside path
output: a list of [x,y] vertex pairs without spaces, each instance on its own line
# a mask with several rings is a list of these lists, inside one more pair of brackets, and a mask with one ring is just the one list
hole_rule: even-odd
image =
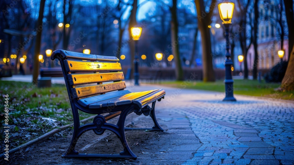
[[234,3],[221,3],[218,4],[218,11],[220,13],[220,18],[223,20],[222,24],[225,26],[225,40],[226,40],[226,54],[225,54],[225,98],[223,101],[236,101],[233,95],[233,79],[231,72],[231,65],[233,61],[231,60],[230,54],[230,42],[229,42],[229,27],[232,23],[234,10]]

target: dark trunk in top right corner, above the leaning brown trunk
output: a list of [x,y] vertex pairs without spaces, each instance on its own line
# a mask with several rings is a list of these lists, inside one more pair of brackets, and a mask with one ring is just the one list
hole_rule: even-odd
[[[287,24],[288,24],[288,38],[289,38],[289,49],[288,49],[288,59],[290,60],[291,51],[294,46],[294,13],[293,13],[293,1],[291,0],[284,0],[285,5],[285,13],[287,18]],[[288,63],[289,66],[289,63]]]

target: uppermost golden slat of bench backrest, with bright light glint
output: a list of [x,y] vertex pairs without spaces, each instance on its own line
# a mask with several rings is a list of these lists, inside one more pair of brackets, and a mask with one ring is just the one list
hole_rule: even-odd
[[111,63],[111,62],[87,62],[87,61],[71,61],[65,60],[68,67],[66,68],[67,72],[83,72],[83,71],[119,71],[121,70],[120,63]]

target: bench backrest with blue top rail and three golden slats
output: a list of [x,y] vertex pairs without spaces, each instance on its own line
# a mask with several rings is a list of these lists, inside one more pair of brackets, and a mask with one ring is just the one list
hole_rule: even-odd
[[105,94],[126,88],[121,64],[112,56],[87,55],[56,50],[51,60],[58,59],[71,98]]

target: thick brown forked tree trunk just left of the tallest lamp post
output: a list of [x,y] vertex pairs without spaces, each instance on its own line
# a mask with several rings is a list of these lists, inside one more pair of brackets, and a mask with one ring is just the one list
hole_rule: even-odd
[[[209,13],[206,13],[203,0],[195,0],[195,4],[198,15],[198,28],[201,32],[203,82],[214,82],[215,74],[213,71],[210,29],[208,25],[211,24],[211,17],[215,5],[211,5],[210,8],[212,9]],[[216,0],[212,0],[211,4],[216,4]]]

